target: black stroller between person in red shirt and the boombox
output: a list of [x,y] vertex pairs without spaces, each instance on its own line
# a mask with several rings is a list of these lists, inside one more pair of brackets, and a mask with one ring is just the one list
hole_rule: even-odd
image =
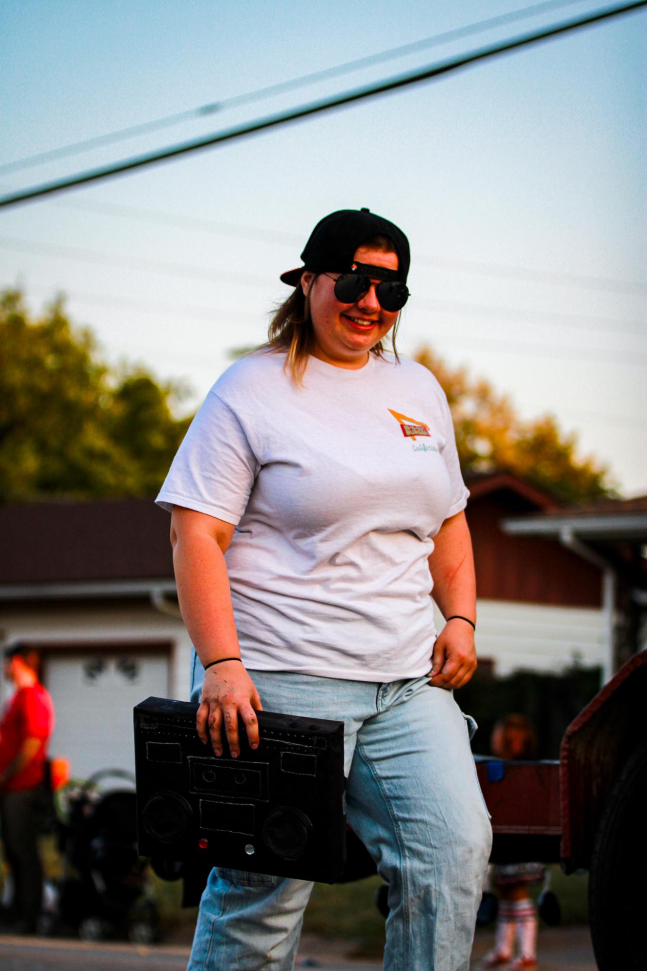
[[44,911],[42,933],[76,931],[82,940],[157,939],[159,914],[148,887],[147,860],[137,853],[134,788],[101,791],[107,778],[134,777],[120,769],[95,773],[62,794],[66,820],[58,820],[63,874]]

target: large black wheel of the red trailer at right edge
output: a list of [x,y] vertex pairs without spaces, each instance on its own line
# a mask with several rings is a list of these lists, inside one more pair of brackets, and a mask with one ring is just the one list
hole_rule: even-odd
[[609,793],[591,859],[589,924],[599,971],[644,971],[647,954],[647,747]]

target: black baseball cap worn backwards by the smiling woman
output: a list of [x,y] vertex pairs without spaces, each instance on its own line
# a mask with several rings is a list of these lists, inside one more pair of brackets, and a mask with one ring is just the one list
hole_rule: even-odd
[[301,258],[304,265],[296,270],[286,270],[280,279],[284,284],[296,286],[304,270],[315,273],[350,273],[358,247],[372,236],[386,236],[398,253],[397,279],[406,283],[411,261],[409,244],[402,229],[369,209],[340,209],[325,216],[310,233]]

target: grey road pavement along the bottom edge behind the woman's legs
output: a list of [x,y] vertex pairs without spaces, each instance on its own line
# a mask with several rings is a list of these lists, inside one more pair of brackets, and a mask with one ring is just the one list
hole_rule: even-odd
[[[480,958],[492,947],[491,932],[477,934],[471,968],[478,971]],[[318,971],[377,971],[377,959],[348,955],[347,941],[326,941],[305,936],[297,968]],[[2,971],[184,971],[186,945],[89,944],[78,940],[38,937],[0,937]],[[587,927],[543,928],[539,932],[540,971],[597,971]]]

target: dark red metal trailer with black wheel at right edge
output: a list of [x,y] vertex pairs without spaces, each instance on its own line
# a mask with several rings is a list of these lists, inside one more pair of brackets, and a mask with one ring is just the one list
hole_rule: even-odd
[[559,761],[476,756],[492,815],[491,860],[589,870],[599,971],[647,968],[647,651],[566,729]]

